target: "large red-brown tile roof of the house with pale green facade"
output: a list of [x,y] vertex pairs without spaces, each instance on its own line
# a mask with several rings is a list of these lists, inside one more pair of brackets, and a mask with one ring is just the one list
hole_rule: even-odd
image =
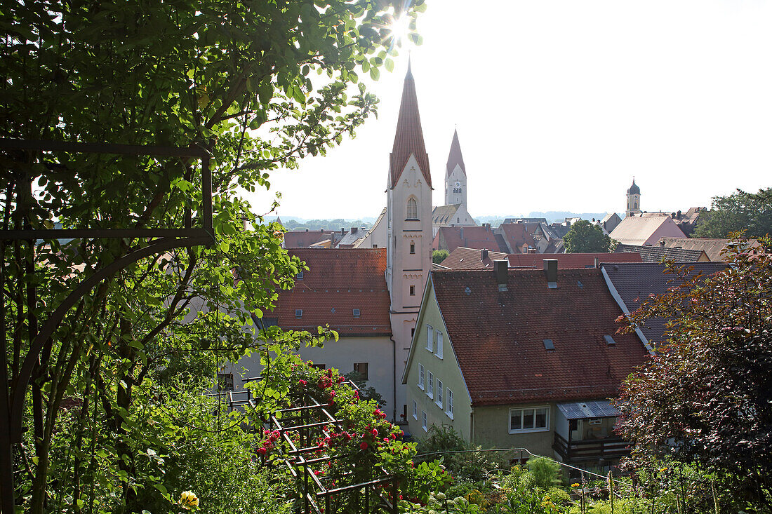
[[613,397],[648,358],[635,334],[615,333],[621,309],[600,269],[559,270],[557,289],[542,270],[510,269],[503,292],[493,271],[432,280],[473,405]]

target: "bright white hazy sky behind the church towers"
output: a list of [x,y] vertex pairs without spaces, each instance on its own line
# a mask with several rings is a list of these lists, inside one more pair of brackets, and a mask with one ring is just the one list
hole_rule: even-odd
[[[772,2],[427,0],[353,140],[275,171],[279,215],[377,216],[386,205],[408,49],[443,205],[458,127],[472,216],[709,205],[772,186]],[[270,195],[252,197],[258,213]]]

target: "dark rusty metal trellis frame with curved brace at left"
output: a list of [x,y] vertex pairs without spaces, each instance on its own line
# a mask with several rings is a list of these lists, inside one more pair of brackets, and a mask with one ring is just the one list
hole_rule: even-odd
[[[8,363],[5,351],[5,333],[3,334],[0,359],[2,359],[2,384],[0,384],[0,507],[3,514],[14,512],[13,487],[13,447],[22,440],[22,411],[25,394],[29,387],[33,371],[39,366],[39,358],[50,349],[50,338],[56,327],[63,320],[67,311],[79,299],[90,292],[104,279],[113,276],[120,269],[161,252],[175,248],[198,245],[211,245],[214,241],[212,228],[212,171],[210,170],[210,155],[203,147],[191,146],[161,147],[137,146],[128,144],[93,144],[67,143],[63,141],[36,141],[19,139],[0,139],[0,150],[21,150],[27,152],[66,152],[80,154],[114,154],[152,157],[195,157],[201,160],[201,226],[193,227],[191,209],[185,209],[184,228],[84,228],[84,229],[16,229],[0,230],[0,245],[3,248],[5,261],[6,241],[28,241],[30,252],[34,255],[35,242],[39,239],[58,238],[144,238],[150,240],[142,249],[129,252],[119,259],[99,269],[92,276],[84,279],[73,289],[50,314],[41,330],[37,330],[37,320],[32,314],[36,308],[37,295],[34,285],[27,295],[27,313],[29,316],[29,352],[20,367],[15,383],[8,384]],[[10,198],[6,198],[10,201]],[[5,266],[5,262],[3,262]],[[28,272],[31,270],[28,270]],[[0,299],[5,302],[5,299]],[[4,323],[4,321],[3,321]],[[45,363],[44,363],[45,364]]]

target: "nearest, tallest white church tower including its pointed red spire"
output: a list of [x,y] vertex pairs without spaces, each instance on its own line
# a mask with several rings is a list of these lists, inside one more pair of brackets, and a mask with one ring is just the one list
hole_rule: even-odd
[[[418,308],[432,266],[432,175],[409,63],[397,134],[389,158],[386,194],[386,282],[391,295],[397,380],[405,369]],[[398,386],[396,392],[395,407],[401,413],[407,404],[405,387]]]

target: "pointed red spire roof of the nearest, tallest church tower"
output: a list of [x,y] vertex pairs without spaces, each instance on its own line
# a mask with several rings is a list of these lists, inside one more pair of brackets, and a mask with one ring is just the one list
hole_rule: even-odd
[[397,133],[394,135],[394,147],[389,157],[389,188],[397,184],[405,164],[411,155],[418,161],[418,167],[424,175],[426,184],[432,187],[432,174],[429,171],[429,156],[424,144],[424,132],[421,117],[418,114],[418,97],[415,94],[415,79],[408,63],[405,86],[402,87],[402,100],[399,105]]

